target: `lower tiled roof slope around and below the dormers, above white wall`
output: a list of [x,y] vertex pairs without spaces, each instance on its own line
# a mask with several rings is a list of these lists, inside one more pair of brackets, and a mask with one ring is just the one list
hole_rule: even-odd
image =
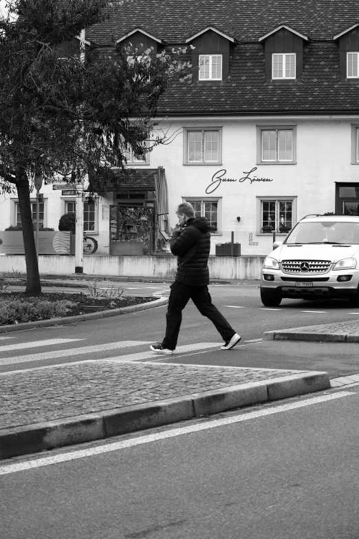
[[335,43],[309,43],[301,82],[265,82],[260,44],[237,45],[228,82],[173,83],[160,98],[158,114],[265,114],[359,112],[359,81],[340,82]]

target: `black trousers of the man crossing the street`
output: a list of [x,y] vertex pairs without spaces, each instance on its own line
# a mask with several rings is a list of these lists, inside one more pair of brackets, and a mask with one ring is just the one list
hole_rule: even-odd
[[171,294],[168,301],[166,314],[166,336],[162,341],[163,348],[175,350],[182,322],[182,310],[192,299],[201,315],[206,316],[215,325],[224,341],[235,335],[235,330],[230,326],[226,318],[212,303],[208,286],[191,286],[175,281],[170,286]]

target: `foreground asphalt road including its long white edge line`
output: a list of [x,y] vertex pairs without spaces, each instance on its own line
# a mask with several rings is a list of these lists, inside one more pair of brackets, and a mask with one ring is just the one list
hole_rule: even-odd
[[0,536],[357,539],[358,406],[329,390],[12,459]]

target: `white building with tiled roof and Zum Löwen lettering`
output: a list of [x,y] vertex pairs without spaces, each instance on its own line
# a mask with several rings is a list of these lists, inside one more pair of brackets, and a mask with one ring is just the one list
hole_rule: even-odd
[[[131,182],[84,200],[96,255],[165,250],[159,178],[171,226],[177,204],[191,202],[213,225],[213,255],[232,233],[242,255],[265,255],[272,232],[285,237],[304,215],[359,215],[358,20],[354,1],[138,0],[87,30],[100,50],[112,36],[140,51],[181,45],[192,64],[157,109],[171,143],[146,160],[129,149]],[[42,193],[40,219],[56,229],[76,197],[52,185]],[[19,222],[16,197],[2,208],[1,230]]]

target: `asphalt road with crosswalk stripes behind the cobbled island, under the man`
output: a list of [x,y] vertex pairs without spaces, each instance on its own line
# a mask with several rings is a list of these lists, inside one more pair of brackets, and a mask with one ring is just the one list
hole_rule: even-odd
[[[126,293],[135,295],[160,297],[169,292],[169,284],[122,286]],[[359,372],[357,344],[258,342],[268,330],[359,319],[359,309],[351,308],[347,302],[284,299],[278,308],[268,309],[259,299],[259,282],[212,285],[210,293],[213,302],[242,335],[240,346],[219,350],[221,337],[190,303],[184,310],[178,346],[188,345],[191,349],[171,359],[161,356],[159,361],[325,370],[332,377]],[[85,359],[129,355],[135,358],[149,350],[149,343],[162,340],[165,314],[164,306],[120,317],[1,334],[0,372]],[[133,341],[133,346],[123,348],[123,341]],[[154,359],[154,355],[146,359]]]

